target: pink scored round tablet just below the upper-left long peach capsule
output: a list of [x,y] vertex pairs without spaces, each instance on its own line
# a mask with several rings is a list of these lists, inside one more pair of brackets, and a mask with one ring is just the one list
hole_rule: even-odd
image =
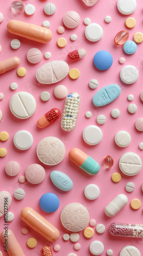
[[27,59],[29,60],[29,62],[36,64],[38,63],[42,58],[42,53],[39,49],[37,48],[31,48],[28,52],[27,52]]

